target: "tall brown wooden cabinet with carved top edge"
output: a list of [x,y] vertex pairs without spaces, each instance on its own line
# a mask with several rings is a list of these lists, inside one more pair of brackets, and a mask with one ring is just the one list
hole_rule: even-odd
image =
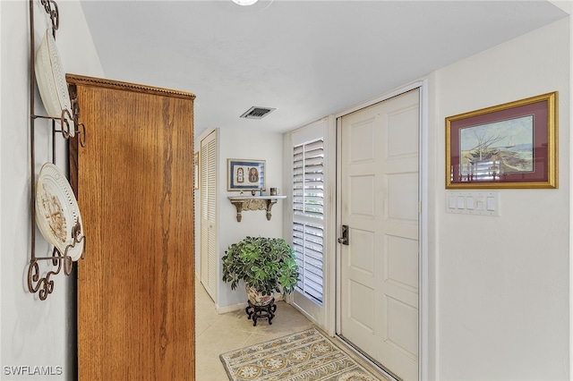
[[70,181],[87,238],[78,262],[78,377],[194,379],[192,93],[66,75],[85,147]]

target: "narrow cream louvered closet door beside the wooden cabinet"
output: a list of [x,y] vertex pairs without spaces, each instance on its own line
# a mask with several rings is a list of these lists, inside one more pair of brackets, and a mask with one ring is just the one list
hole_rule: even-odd
[[217,131],[201,140],[201,284],[217,301]]

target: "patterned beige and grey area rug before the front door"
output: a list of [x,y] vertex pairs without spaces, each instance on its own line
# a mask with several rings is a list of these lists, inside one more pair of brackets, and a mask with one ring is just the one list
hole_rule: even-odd
[[220,355],[231,381],[377,381],[317,329]]

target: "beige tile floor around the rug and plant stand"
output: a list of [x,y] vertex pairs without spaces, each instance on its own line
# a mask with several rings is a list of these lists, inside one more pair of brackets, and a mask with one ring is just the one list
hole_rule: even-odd
[[[310,320],[284,301],[277,302],[277,315],[269,325],[260,319],[257,326],[247,319],[244,309],[218,315],[215,303],[202,284],[195,285],[195,378],[197,381],[227,381],[219,354],[262,343],[314,326]],[[333,340],[333,342],[335,342]],[[335,342],[336,343],[336,342]],[[341,346],[345,351],[346,348]],[[354,355],[352,355],[355,358]],[[370,368],[362,359],[356,359]],[[372,371],[372,368],[370,368]],[[374,370],[375,372],[375,370]],[[380,373],[374,373],[381,377]]]

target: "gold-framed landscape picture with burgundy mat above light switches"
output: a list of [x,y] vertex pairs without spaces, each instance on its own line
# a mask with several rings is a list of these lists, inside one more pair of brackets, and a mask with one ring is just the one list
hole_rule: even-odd
[[557,188],[557,91],[446,118],[446,188]]

